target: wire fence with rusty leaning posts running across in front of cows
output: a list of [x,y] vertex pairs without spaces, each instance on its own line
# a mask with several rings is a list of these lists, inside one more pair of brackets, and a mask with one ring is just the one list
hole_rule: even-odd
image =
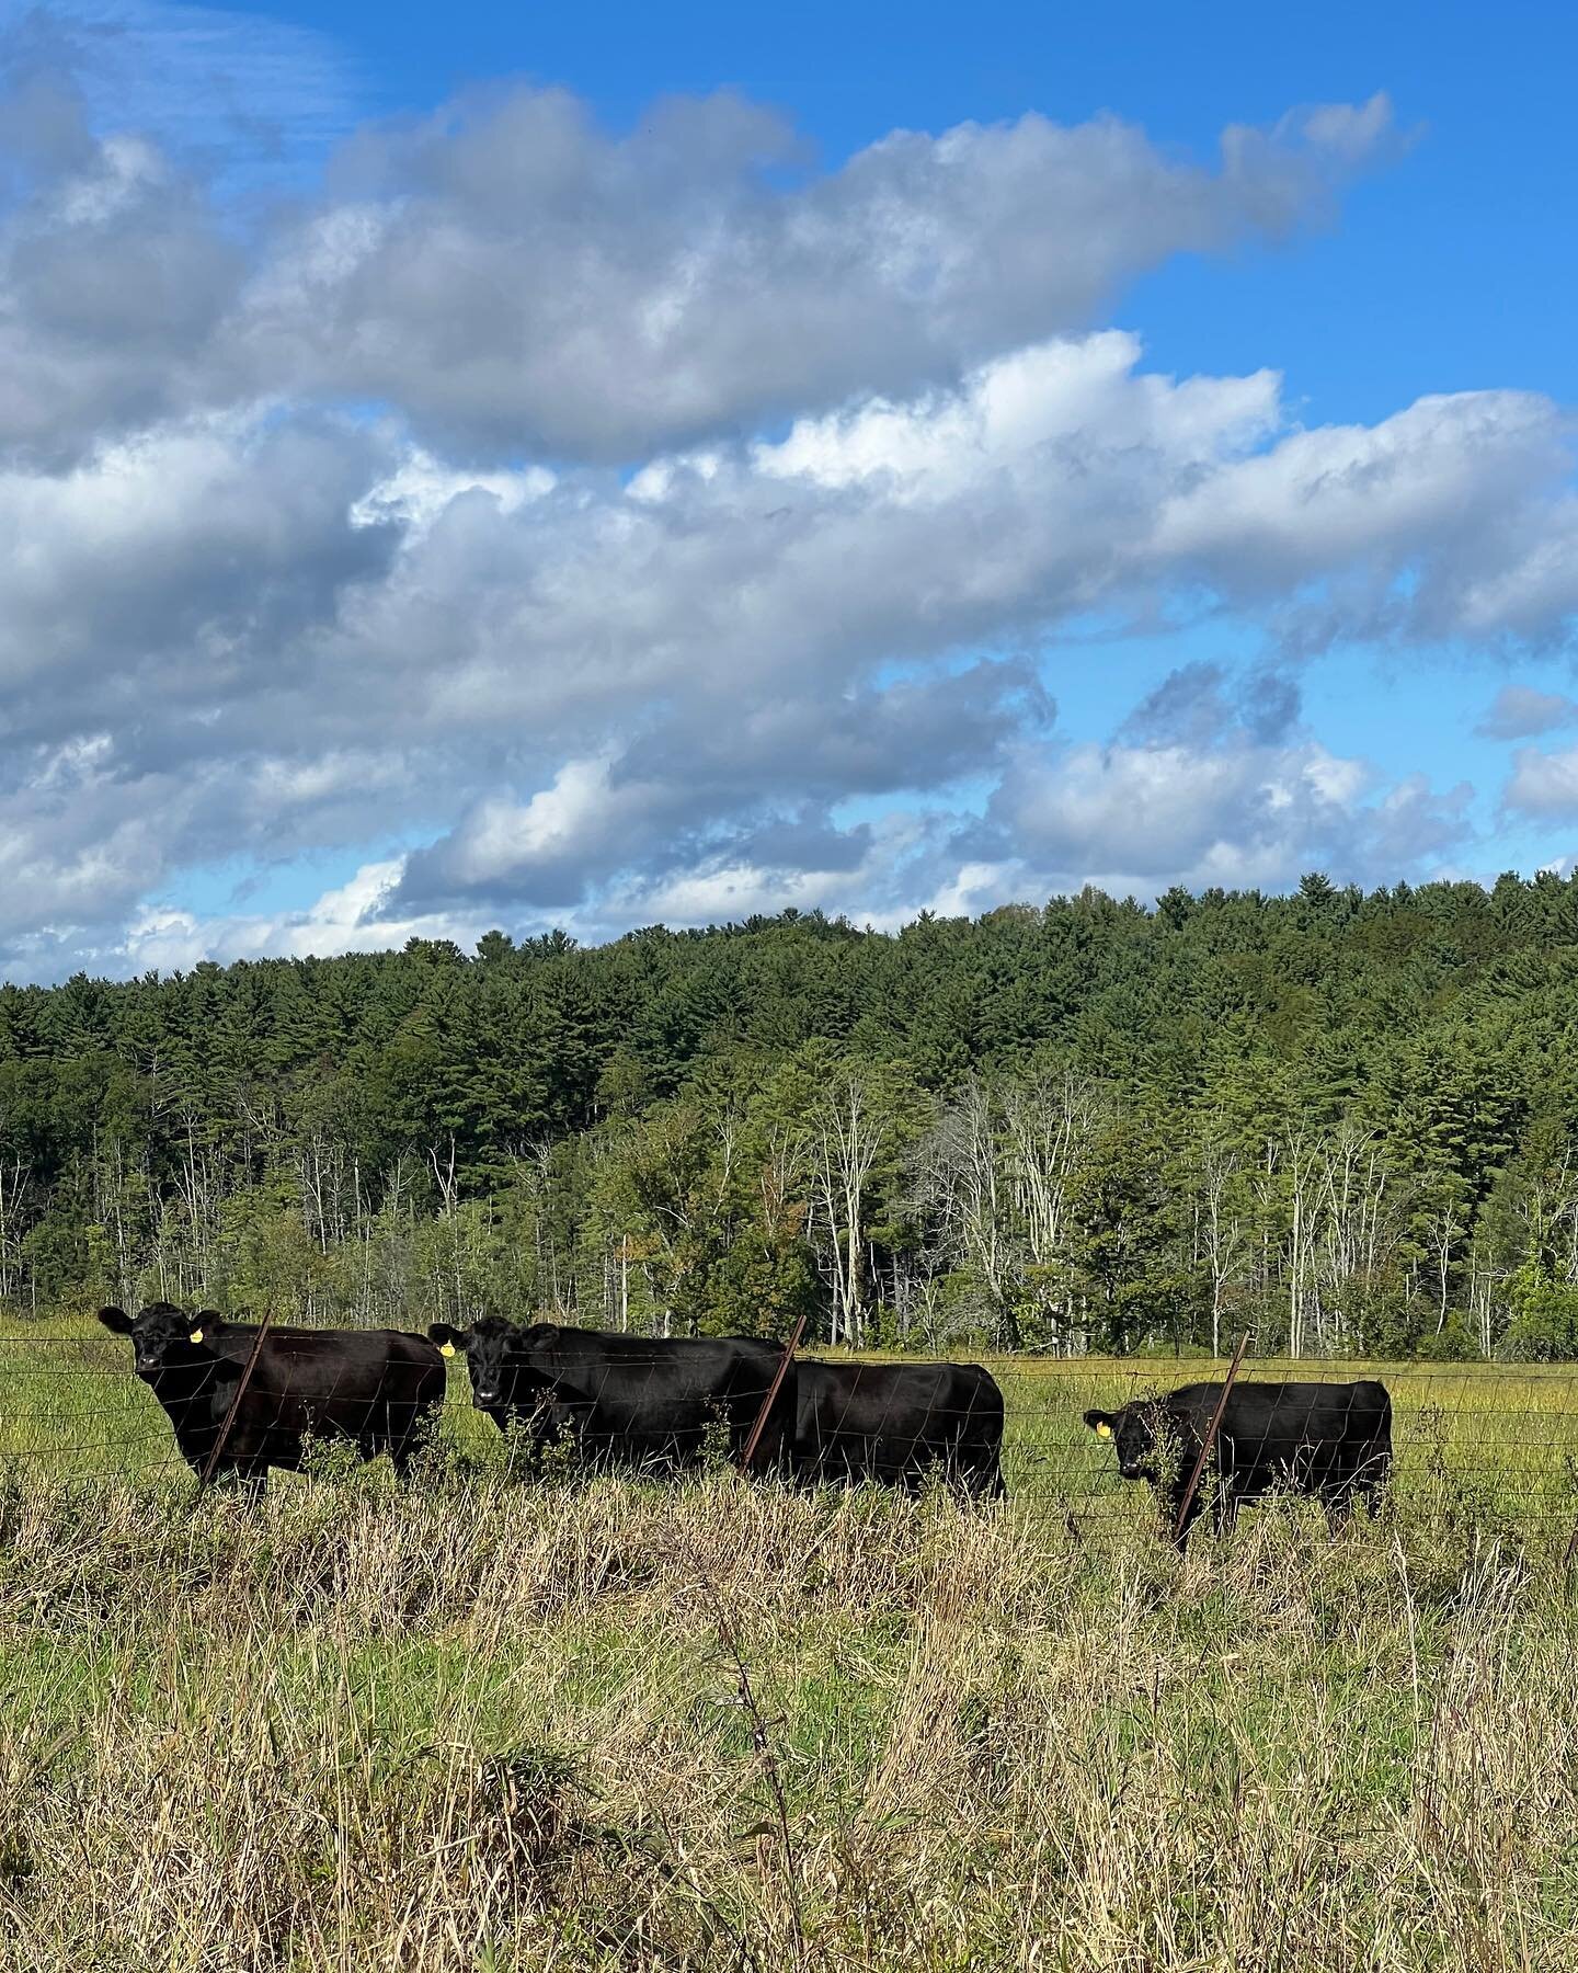
[[[347,1367],[335,1363],[335,1340],[341,1334],[361,1338],[363,1344],[373,1340],[367,1332],[276,1330],[272,1348],[258,1355],[239,1407],[235,1446],[221,1450],[243,1460],[262,1460],[270,1448],[278,1454],[292,1434],[300,1438],[306,1428],[341,1434],[359,1440],[365,1452],[377,1452],[391,1448],[414,1423],[414,1411],[422,1411],[432,1415],[440,1440],[456,1452],[481,1462],[499,1456],[505,1436],[495,1417],[473,1405],[464,1355],[448,1361],[442,1397],[418,1403],[404,1385],[394,1389],[379,1375],[369,1383],[365,1363],[351,1379]],[[254,1330],[237,1326],[229,1336],[245,1357]],[[773,1357],[771,1346],[761,1350]],[[1055,1511],[1071,1527],[1089,1533],[1126,1527],[1146,1511],[1156,1513],[1156,1482],[1166,1494],[1180,1454],[1187,1472],[1205,1436],[1205,1415],[1215,1409],[1227,1377],[1225,1363],[1189,1357],[1000,1355],[974,1361],[1002,1393],[1002,1478],[1010,1499]],[[590,1419],[592,1438],[604,1452],[617,1454],[625,1432],[625,1450],[635,1450],[631,1464],[639,1466],[641,1456],[655,1454],[665,1434],[665,1379],[671,1377],[673,1363],[675,1346],[631,1338],[623,1342],[617,1365],[604,1365],[600,1375],[582,1375],[570,1393],[570,1405],[564,1403],[564,1391],[548,1399],[538,1391],[531,1403],[521,1397],[513,1413],[527,1438],[546,1438],[548,1426],[566,1419],[580,1421],[582,1426]],[[807,1411],[801,1385],[817,1375],[819,1365],[834,1375],[825,1377],[819,1407]],[[959,1381],[941,1375],[947,1369],[949,1365],[933,1359],[844,1359],[815,1350],[797,1355],[795,1375],[787,1381],[781,1403],[801,1407],[801,1432],[811,1434],[809,1452],[805,1444],[799,1448],[803,1468],[811,1478],[915,1480],[929,1466],[947,1464],[949,1448],[974,1442],[972,1434],[980,1426],[978,1393],[967,1391],[961,1399]],[[235,1371],[237,1363],[231,1361],[227,1375]],[[1373,1436],[1373,1421],[1359,1421],[1355,1426],[1351,1415],[1353,1389],[1371,1379],[1385,1385],[1391,1401],[1391,1460],[1385,1478],[1400,1511],[1416,1505],[1450,1511],[1477,1525],[1558,1537],[1574,1531],[1578,1365],[1310,1363],[1251,1355],[1243,1363],[1235,1405],[1251,1411],[1258,1407],[1262,1423],[1256,1426],[1256,1442],[1264,1464],[1278,1468],[1272,1480],[1296,1492],[1322,1492],[1320,1482],[1331,1478],[1322,1464],[1327,1450],[1333,1444],[1365,1442],[1367,1430]],[[1324,1423],[1312,1423],[1300,1409],[1302,1401],[1276,1395],[1274,1387],[1288,1381],[1333,1387]],[[746,1379],[714,1405],[710,1417],[720,1425],[724,1456],[738,1460],[752,1426],[759,1423],[765,1385],[765,1377],[755,1385]],[[1166,1405],[1170,1393],[1189,1385],[1213,1387],[1195,1415],[1187,1407],[1180,1413],[1178,1399],[1172,1407]],[[1343,1391],[1349,1393],[1347,1399],[1341,1397]],[[211,1409],[211,1399],[201,1393],[199,1403]],[[819,1417],[811,1417],[807,1425],[815,1411]],[[1097,1423],[1087,1415],[1097,1415]],[[1152,1454],[1142,1444],[1138,1460],[1132,1458],[1134,1446],[1124,1444],[1124,1425],[1132,1425],[1136,1415],[1158,1440]],[[1203,1474],[1207,1494],[1213,1476],[1221,1478],[1223,1460],[1243,1460],[1237,1446],[1245,1432],[1235,1426],[1237,1417],[1229,1407],[1221,1426],[1223,1444],[1209,1448]],[[621,1425],[621,1419],[627,1423]],[[1168,1444],[1172,1426],[1178,1426],[1176,1440]],[[783,1430],[789,1436],[795,1430],[787,1413]],[[187,1432],[183,1444],[178,1444],[164,1405],[134,1375],[124,1338],[97,1330],[20,1330],[0,1336],[0,1466],[73,1482],[154,1480],[193,1470],[201,1456],[213,1452],[215,1432],[217,1421],[209,1417],[207,1438]],[[260,1432],[268,1436],[268,1444],[262,1444]],[[698,1450],[694,1436],[681,1434],[681,1440],[682,1454]],[[708,1440],[708,1448],[718,1452],[718,1434]],[[775,1460],[787,1456],[785,1448],[787,1438],[775,1442],[767,1432],[759,1468],[773,1468]],[[813,1458],[815,1454],[821,1458]],[[1134,1478],[1120,1472],[1126,1454],[1128,1464],[1138,1468]],[[1174,1474],[1166,1468],[1168,1454],[1174,1458]],[[274,1458],[274,1464],[290,1460]],[[1339,1472],[1337,1482],[1341,1478]],[[1176,1503],[1176,1492],[1172,1499]]]

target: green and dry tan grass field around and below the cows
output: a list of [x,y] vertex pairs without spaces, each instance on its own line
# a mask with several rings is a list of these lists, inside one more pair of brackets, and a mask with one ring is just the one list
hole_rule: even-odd
[[108,1338],[39,1342],[0,1405],[0,1965],[1570,1973],[1572,1385],[1385,1375],[1391,1515],[1180,1563],[1077,1423],[1132,1363],[1006,1377],[1006,1507],[444,1462],[254,1507],[166,1474]]

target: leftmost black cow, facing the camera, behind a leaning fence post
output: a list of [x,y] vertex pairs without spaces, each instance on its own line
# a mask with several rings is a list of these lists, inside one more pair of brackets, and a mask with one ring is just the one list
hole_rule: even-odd
[[[252,1355],[256,1328],[225,1322],[211,1308],[191,1316],[150,1302],[136,1318],[101,1308],[99,1320],[130,1336],[136,1375],[164,1405],[176,1444],[201,1472]],[[402,1330],[270,1328],[237,1407],[215,1478],[254,1492],[268,1468],[302,1466],[310,1434],[349,1438],[363,1458],[387,1452],[404,1472],[422,1426],[444,1403],[444,1361],[432,1344]]]

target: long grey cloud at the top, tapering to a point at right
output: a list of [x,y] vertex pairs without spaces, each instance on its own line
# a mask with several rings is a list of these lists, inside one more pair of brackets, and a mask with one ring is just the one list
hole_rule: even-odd
[[[144,10],[172,45],[179,12]],[[1205,170],[1032,112],[819,172],[730,93],[613,136],[519,87],[361,132],[320,197],[243,229],[183,150],[89,134],[43,71],[0,120],[0,442],[288,395],[398,406],[444,448],[639,460],[1083,328],[1170,255],[1322,215],[1391,136],[1383,97],[1327,105],[1229,128]]]

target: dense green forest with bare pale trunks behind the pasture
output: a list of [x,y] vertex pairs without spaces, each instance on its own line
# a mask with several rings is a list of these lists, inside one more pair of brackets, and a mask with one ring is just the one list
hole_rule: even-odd
[[0,1320],[1578,1355],[1578,878],[0,986]]

